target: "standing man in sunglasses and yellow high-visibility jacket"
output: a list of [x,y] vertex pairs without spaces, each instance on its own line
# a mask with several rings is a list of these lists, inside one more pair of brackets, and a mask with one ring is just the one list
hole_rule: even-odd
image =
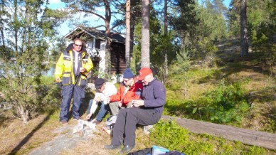
[[[73,47],[72,47],[73,44]],[[93,68],[92,60],[85,50],[84,43],[79,38],[61,53],[55,66],[55,81],[60,82],[62,78],[63,97],[60,105],[60,123],[68,124],[69,108],[72,95],[73,119],[80,119],[80,106],[85,97],[86,73]]]

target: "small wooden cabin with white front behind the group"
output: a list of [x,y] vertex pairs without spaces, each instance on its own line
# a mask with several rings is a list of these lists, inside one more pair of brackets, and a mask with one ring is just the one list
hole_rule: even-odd
[[[92,70],[91,78],[101,77],[100,74],[105,70],[105,46],[107,36],[105,31],[97,30],[95,28],[81,28],[80,26],[70,31],[63,36],[66,44],[69,45],[75,38],[81,38],[86,43],[86,50],[92,59],[94,70]],[[116,82],[119,82],[119,76],[126,68],[125,63],[125,38],[119,33],[111,33],[110,58],[111,71],[116,75]],[[90,81],[92,82],[92,81]]]

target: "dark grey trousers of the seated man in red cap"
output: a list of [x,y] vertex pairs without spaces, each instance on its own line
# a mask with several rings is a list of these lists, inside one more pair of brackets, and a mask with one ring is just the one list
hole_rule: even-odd
[[154,109],[120,109],[113,129],[111,144],[134,146],[136,125],[152,125],[158,122],[160,118],[161,113],[155,112]]

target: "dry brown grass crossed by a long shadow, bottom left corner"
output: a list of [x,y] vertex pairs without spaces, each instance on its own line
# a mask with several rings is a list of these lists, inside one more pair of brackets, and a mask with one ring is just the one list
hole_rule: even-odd
[[50,141],[55,134],[53,129],[59,124],[49,119],[46,114],[33,119],[24,125],[14,119],[9,125],[1,126],[0,154],[25,154],[45,141]]

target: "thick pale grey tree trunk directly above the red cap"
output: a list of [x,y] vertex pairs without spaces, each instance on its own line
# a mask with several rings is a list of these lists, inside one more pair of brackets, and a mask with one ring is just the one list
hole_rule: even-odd
[[141,68],[150,68],[149,59],[149,0],[142,0]]

